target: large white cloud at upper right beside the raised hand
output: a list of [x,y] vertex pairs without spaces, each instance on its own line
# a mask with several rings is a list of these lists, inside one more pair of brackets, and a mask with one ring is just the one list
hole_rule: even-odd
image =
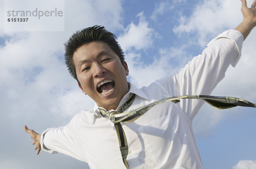
[[205,0],[198,3],[191,16],[181,14],[180,24],[173,31],[180,35],[196,33],[199,45],[205,46],[209,40],[207,35],[217,34],[225,28],[235,28],[241,22],[240,8],[239,0]]

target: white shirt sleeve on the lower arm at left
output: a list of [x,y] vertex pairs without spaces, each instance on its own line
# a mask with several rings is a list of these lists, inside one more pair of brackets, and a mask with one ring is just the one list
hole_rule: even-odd
[[45,152],[62,154],[87,162],[76,139],[75,118],[63,127],[49,128],[41,135],[41,149]]

